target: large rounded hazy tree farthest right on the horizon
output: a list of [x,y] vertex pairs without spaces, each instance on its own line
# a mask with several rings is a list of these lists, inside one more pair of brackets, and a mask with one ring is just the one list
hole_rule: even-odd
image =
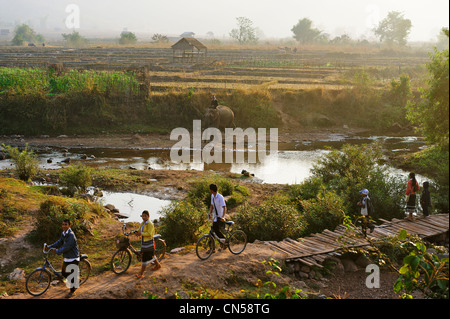
[[398,11],[391,11],[372,31],[380,38],[381,42],[406,45],[411,27],[411,20],[404,18],[403,14]]

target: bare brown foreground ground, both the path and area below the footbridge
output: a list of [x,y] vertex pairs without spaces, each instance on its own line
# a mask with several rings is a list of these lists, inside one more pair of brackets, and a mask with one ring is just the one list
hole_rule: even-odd
[[[157,271],[147,269],[144,278],[136,279],[135,274],[140,265],[131,266],[121,275],[105,272],[91,276],[82,285],[74,299],[146,299],[144,291],[158,298],[188,298],[187,293],[204,293],[208,288],[209,297],[232,298],[240,296],[243,286],[256,293],[258,279],[273,280],[278,286],[289,285],[301,289],[310,296],[324,294],[336,299],[397,299],[392,286],[397,275],[382,272],[378,289],[369,289],[365,285],[367,274],[364,270],[345,273],[341,276],[330,275],[323,281],[300,281],[293,276],[271,275],[262,261],[270,258],[282,259],[283,255],[268,246],[250,243],[240,255],[233,255],[228,250],[216,252],[208,260],[200,260],[194,249],[186,249],[177,254],[166,256],[161,261],[162,268]],[[307,286],[305,286],[305,284]],[[51,286],[42,296],[33,297],[27,293],[18,293],[6,299],[63,299],[68,289],[59,284]],[[223,294],[226,293],[226,295]],[[199,295],[196,297],[198,298]],[[253,295],[254,296],[254,295]]]

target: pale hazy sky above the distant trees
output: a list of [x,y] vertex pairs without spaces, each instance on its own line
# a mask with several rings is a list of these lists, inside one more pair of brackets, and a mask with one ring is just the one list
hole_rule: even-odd
[[292,37],[292,26],[302,18],[332,37],[370,38],[369,30],[389,11],[411,20],[410,41],[434,40],[449,25],[448,0],[0,0],[0,25],[30,23],[44,34],[55,27],[69,32],[66,21],[76,16],[73,9],[66,12],[70,4],[79,8],[78,31],[97,35],[127,28],[149,35],[192,31],[201,37],[210,31],[227,37],[236,17],[244,16],[268,38]]

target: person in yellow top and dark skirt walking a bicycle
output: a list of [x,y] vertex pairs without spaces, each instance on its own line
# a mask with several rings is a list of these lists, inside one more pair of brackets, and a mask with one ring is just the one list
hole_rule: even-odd
[[155,226],[150,221],[150,213],[144,210],[141,214],[142,224],[138,230],[138,235],[141,236],[141,253],[142,253],[142,267],[141,271],[136,274],[136,278],[144,277],[144,272],[147,266],[151,263],[155,263],[152,270],[158,270],[161,268],[161,264],[158,258],[155,256],[155,244],[153,236],[155,235]]

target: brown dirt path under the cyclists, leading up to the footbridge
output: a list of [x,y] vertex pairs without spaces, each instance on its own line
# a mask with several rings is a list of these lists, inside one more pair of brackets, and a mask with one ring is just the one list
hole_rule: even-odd
[[[262,263],[269,258],[282,259],[264,244],[248,244],[240,255],[233,255],[228,250],[216,252],[208,260],[200,260],[193,249],[186,249],[178,254],[171,254],[162,260],[162,268],[152,271],[150,268],[142,279],[136,279],[140,264],[136,264],[122,275],[105,272],[92,276],[77,290],[75,299],[145,299],[144,291],[159,298],[180,297],[186,292],[201,293],[208,288],[212,294],[225,292],[217,297],[229,298],[237,294],[247,284],[255,287],[258,279],[267,278],[268,269]],[[276,279],[276,278],[274,278]],[[280,279],[277,279],[280,280]],[[290,282],[288,277],[281,281]],[[183,292],[184,291],[184,292]],[[26,293],[14,294],[8,299],[60,299],[68,289],[59,284],[51,286],[42,296],[32,297]]]

